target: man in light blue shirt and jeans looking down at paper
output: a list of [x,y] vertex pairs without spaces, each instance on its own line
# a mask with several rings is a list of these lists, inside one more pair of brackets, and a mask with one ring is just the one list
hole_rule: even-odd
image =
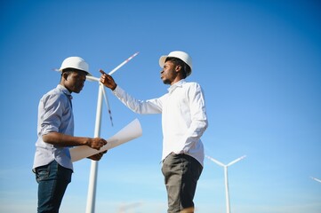
[[[71,92],[79,93],[84,87],[88,64],[79,57],[65,59],[60,67],[60,84],[40,99],[36,154],[33,171],[38,183],[38,213],[58,213],[60,203],[71,181],[73,165],[71,146],[90,146],[100,150],[107,144],[103,138],[74,137],[74,115]],[[99,161],[106,152],[89,157]]]

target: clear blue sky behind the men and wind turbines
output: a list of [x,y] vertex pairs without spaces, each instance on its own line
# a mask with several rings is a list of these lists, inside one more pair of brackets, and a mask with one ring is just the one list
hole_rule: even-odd
[[[158,59],[187,51],[187,80],[205,91],[206,154],[228,163],[237,213],[319,213],[321,184],[321,4],[319,1],[3,1],[0,5],[0,211],[35,212],[31,172],[37,105],[60,75],[52,68],[80,56],[93,75],[140,54],[114,78],[138,99],[163,95]],[[92,137],[98,86],[74,95],[76,135]],[[114,127],[138,118],[143,135],[99,163],[96,213],[165,212],[160,115],[133,114],[108,91]],[[104,109],[106,107],[104,106]],[[75,173],[60,211],[84,212],[90,161]],[[225,212],[223,169],[205,159],[197,212]]]

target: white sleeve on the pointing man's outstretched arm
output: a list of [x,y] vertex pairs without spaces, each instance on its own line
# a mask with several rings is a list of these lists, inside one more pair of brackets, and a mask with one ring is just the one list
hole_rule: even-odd
[[114,95],[123,102],[125,106],[130,108],[137,114],[161,114],[162,113],[162,99],[148,99],[139,100],[133,98],[126,91],[118,85],[113,91]]

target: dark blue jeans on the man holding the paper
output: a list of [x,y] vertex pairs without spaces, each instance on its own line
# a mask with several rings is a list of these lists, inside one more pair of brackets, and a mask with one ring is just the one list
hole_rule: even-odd
[[60,166],[56,161],[37,167],[38,213],[58,213],[62,197],[71,181],[72,170]]

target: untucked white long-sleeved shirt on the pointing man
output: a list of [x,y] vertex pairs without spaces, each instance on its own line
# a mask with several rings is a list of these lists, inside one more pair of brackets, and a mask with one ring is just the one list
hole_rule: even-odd
[[125,106],[138,114],[162,114],[163,154],[189,154],[204,165],[201,136],[208,122],[204,93],[198,83],[181,80],[158,99],[138,100],[119,86],[113,91]]

